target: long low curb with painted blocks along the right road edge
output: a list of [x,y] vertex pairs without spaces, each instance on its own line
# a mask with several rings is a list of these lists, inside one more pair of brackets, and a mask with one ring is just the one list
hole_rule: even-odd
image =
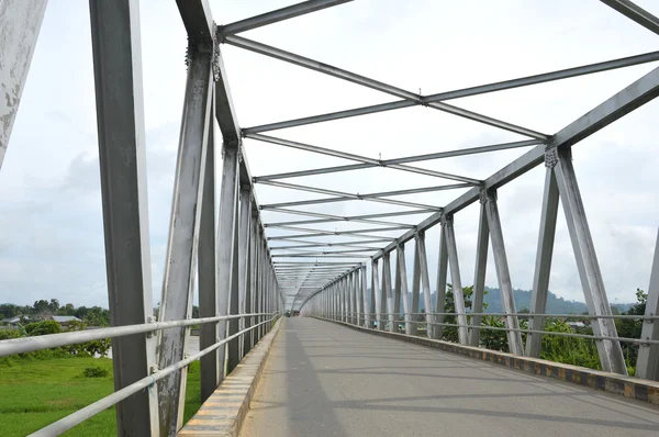
[[328,318],[314,318],[336,323],[338,325],[361,330],[364,333],[442,349],[448,352],[463,355],[469,358],[490,361],[512,369],[523,370],[528,373],[556,378],[561,381],[573,382],[579,385],[590,386],[591,389],[619,394],[626,397],[647,402],[652,405],[659,405],[659,381],[650,381],[634,377],[623,377],[617,373],[603,372],[600,370],[592,370],[578,366],[562,365],[560,362],[547,361],[539,358],[520,357],[512,354],[500,352],[498,350],[457,345],[455,343],[436,340],[426,337],[369,329]]

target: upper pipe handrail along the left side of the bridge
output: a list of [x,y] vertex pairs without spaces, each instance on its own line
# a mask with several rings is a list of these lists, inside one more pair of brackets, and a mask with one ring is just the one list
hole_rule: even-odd
[[[276,314],[276,313],[272,313]],[[47,334],[34,337],[11,338],[0,340],[0,357],[14,354],[32,352],[41,349],[52,349],[79,343],[100,340],[103,338],[124,337],[126,335],[145,334],[172,327],[203,325],[219,321],[228,321],[248,316],[271,315],[270,313],[233,314],[215,317],[188,318],[185,321],[149,322],[137,325],[112,326],[93,330],[76,330],[71,333]]]

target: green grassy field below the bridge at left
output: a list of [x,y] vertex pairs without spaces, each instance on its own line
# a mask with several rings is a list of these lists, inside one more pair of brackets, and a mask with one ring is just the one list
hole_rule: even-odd
[[[105,378],[85,378],[89,367]],[[15,359],[0,365],[0,435],[25,436],[112,393],[112,360],[107,358]],[[188,371],[186,421],[199,408],[199,361]],[[91,417],[65,436],[116,436],[114,407]]]

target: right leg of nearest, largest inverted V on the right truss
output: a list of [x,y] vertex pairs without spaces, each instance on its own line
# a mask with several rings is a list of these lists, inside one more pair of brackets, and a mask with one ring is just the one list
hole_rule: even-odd
[[[568,222],[568,231],[574,250],[574,258],[577,259],[585,303],[590,314],[611,315],[604,280],[600,271],[595,247],[585,217],[585,209],[572,167],[571,150],[570,148],[561,149],[555,156],[554,171]],[[615,323],[612,318],[596,318],[593,321],[592,327],[595,335],[617,337]],[[596,340],[595,344],[604,371],[627,374],[619,341]]]

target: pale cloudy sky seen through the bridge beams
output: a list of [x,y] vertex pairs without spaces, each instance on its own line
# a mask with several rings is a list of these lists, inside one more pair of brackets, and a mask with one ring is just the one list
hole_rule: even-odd
[[[209,2],[220,24],[293,3]],[[659,14],[656,2],[637,3]],[[143,0],[139,13],[152,283],[157,302],[186,81],[186,33],[174,1]],[[652,52],[658,41],[657,35],[595,0],[356,0],[242,36],[422,94]],[[236,47],[223,45],[222,55],[242,127],[396,100]],[[658,64],[450,103],[554,134]],[[636,289],[647,289],[649,283],[659,225],[658,116],[659,102],[649,102],[573,147],[573,165],[612,303],[633,302]],[[525,139],[428,108],[266,134],[382,159]],[[253,176],[351,163],[252,139],[245,139],[245,148]],[[484,179],[526,150],[414,165]],[[532,288],[544,176],[545,168],[539,166],[498,192],[516,289]],[[453,183],[384,168],[286,181],[359,193]],[[261,204],[324,197],[261,184],[256,190]],[[442,206],[463,191],[395,199]],[[89,5],[86,0],[51,0],[0,170],[0,302],[32,304],[55,298],[75,305],[108,305],[100,199]],[[313,211],[354,215],[398,209],[351,201],[315,205]],[[413,224],[425,216],[392,221]],[[263,217],[266,222],[303,218],[272,212],[264,212]],[[339,223],[317,227],[368,226]],[[473,281],[477,228],[478,203],[455,216],[465,285]],[[283,234],[268,231],[269,236]],[[427,232],[426,246],[434,284],[438,226]],[[405,253],[411,272],[413,242]],[[491,253],[485,283],[498,287]],[[562,210],[549,289],[565,299],[583,301]]]

